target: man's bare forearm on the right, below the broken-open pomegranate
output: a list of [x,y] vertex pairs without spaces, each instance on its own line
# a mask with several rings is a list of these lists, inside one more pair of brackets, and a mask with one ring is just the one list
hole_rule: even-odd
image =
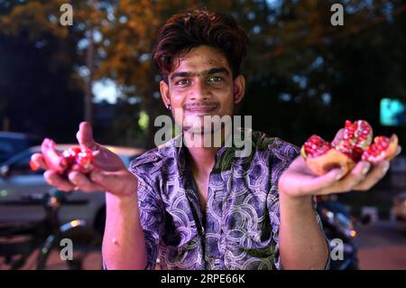
[[279,246],[284,269],[324,269],[328,261],[326,238],[318,226],[311,196],[291,199],[280,193]]

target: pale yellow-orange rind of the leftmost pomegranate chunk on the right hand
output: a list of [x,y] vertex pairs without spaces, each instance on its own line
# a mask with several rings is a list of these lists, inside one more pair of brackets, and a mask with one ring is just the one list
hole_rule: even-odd
[[301,149],[302,156],[304,155],[305,162],[312,172],[318,175],[323,175],[334,168],[342,168],[343,175],[350,172],[355,167],[355,161],[352,160],[344,153],[340,153],[336,149],[332,148],[327,153],[318,157],[307,157],[304,153],[304,149]]

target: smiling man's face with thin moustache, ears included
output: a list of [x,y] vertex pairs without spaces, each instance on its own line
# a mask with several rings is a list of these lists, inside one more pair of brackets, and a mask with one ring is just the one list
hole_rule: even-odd
[[174,67],[168,84],[161,81],[161,96],[183,130],[203,133],[204,116],[233,116],[245,83],[243,76],[233,79],[223,53],[198,46],[175,59]]

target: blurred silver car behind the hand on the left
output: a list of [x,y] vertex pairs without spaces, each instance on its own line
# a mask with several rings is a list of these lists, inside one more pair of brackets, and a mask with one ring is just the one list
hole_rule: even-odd
[[[57,144],[56,149],[63,151],[75,144]],[[125,166],[131,160],[143,153],[143,149],[106,146],[116,153]],[[51,189],[43,178],[43,170],[32,171],[30,160],[32,153],[41,151],[40,146],[34,146],[18,153],[0,165],[0,222],[32,221],[44,217],[41,205],[27,205],[23,199],[42,194]],[[72,191],[67,201],[60,208],[60,221],[67,222],[81,218],[90,226],[103,233],[106,218],[105,193],[103,191],[86,193],[80,190]]]

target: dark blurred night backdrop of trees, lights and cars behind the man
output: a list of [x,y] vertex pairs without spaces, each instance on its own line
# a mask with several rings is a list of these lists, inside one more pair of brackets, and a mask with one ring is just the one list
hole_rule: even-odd
[[[335,3],[343,25],[332,24]],[[49,190],[29,169],[37,148],[26,150],[43,137],[75,143],[86,120],[125,163],[153,147],[154,119],[167,114],[151,60],[155,35],[171,14],[194,8],[232,14],[249,33],[238,113],[253,116],[254,130],[301,145],[364,119],[374,135],[396,133],[403,144],[405,0],[0,0],[0,222],[47,215],[21,202]],[[401,153],[373,190],[319,200],[328,233],[348,237],[350,263],[356,255],[361,269],[406,269],[405,191]],[[73,194],[61,222],[85,218],[102,233],[103,195]]]

